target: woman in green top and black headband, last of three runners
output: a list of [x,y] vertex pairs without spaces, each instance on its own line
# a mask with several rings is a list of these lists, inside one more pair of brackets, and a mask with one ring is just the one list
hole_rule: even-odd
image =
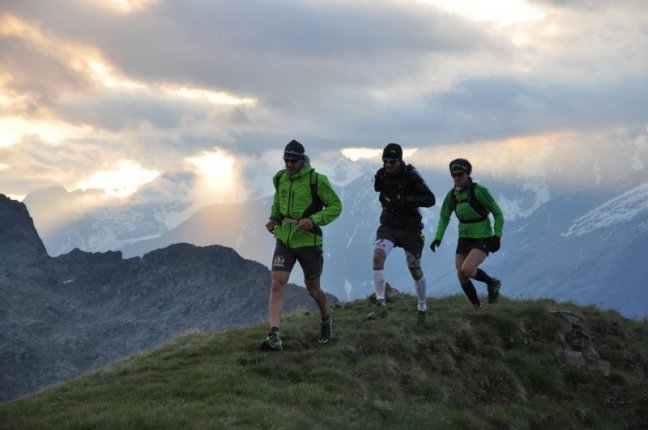
[[[495,303],[499,296],[501,281],[490,277],[479,265],[484,262],[489,252],[499,250],[504,216],[488,189],[473,182],[471,172],[472,165],[464,158],[450,162],[454,187],[443,200],[436,235],[430,249],[434,252],[441,245],[450,215],[455,212],[459,219],[459,239],[455,255],[457,277],[470,302],[479,307],[479,297],[471,278],[486,284],[488,303]],[[493,226],[488,217],[489,213],[493,214]]]

